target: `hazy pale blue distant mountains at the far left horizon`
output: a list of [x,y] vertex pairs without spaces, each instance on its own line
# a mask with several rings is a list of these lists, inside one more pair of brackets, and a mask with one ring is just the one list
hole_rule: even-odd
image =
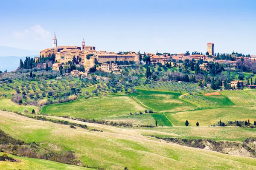
[[23,50],[13,47],[0,46],[0,71],[14,71],[19,67],[20,59],[39,55],[39,50]]

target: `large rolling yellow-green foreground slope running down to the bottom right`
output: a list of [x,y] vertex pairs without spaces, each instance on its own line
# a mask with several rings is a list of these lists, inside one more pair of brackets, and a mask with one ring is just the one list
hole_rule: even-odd
[[26,142],[51,142],[59,148],[74,150],[81,161],[93,166],[113,170],[256,168],[255,159],[160,142],[142,136],[136,129],[94,124],[106,128],[106,132],[91,132],[3,111],[0,116],[0,128],[13,137]]

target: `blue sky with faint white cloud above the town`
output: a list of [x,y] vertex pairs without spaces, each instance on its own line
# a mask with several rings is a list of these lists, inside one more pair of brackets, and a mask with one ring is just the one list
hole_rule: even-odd
[[0,45],[57,45],[141,53],[233,51],[256,55],[256,0],[9,0],[0,6]]

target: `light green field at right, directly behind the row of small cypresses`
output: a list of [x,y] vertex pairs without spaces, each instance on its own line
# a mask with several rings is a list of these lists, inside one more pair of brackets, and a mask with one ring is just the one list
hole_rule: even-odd
[[185,126],[185,121],[189,121],[189,125],[195,126],[199,122],[201,126],[210,126],[217,124],[220,119],[222,122],[235,120],[248,120],[253,122],[256,120],[256,106],[253,107],[227,107],[227,108],[212,108],[195,111],[184,111],[176,113],[165,113],[170,121],[176,126]]

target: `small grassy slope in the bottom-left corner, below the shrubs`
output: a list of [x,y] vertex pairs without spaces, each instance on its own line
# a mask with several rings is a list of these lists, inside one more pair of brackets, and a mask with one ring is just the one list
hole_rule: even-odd
[[[2,155],[3,153],[0,153]],[[8,155],[18,159],[20,162],[4,162],[0,161],[1,170],[93,170],[79,166],[68,164],[61,164],[54,161],[47,161],[43,159],[22,158],[18,156]]]

